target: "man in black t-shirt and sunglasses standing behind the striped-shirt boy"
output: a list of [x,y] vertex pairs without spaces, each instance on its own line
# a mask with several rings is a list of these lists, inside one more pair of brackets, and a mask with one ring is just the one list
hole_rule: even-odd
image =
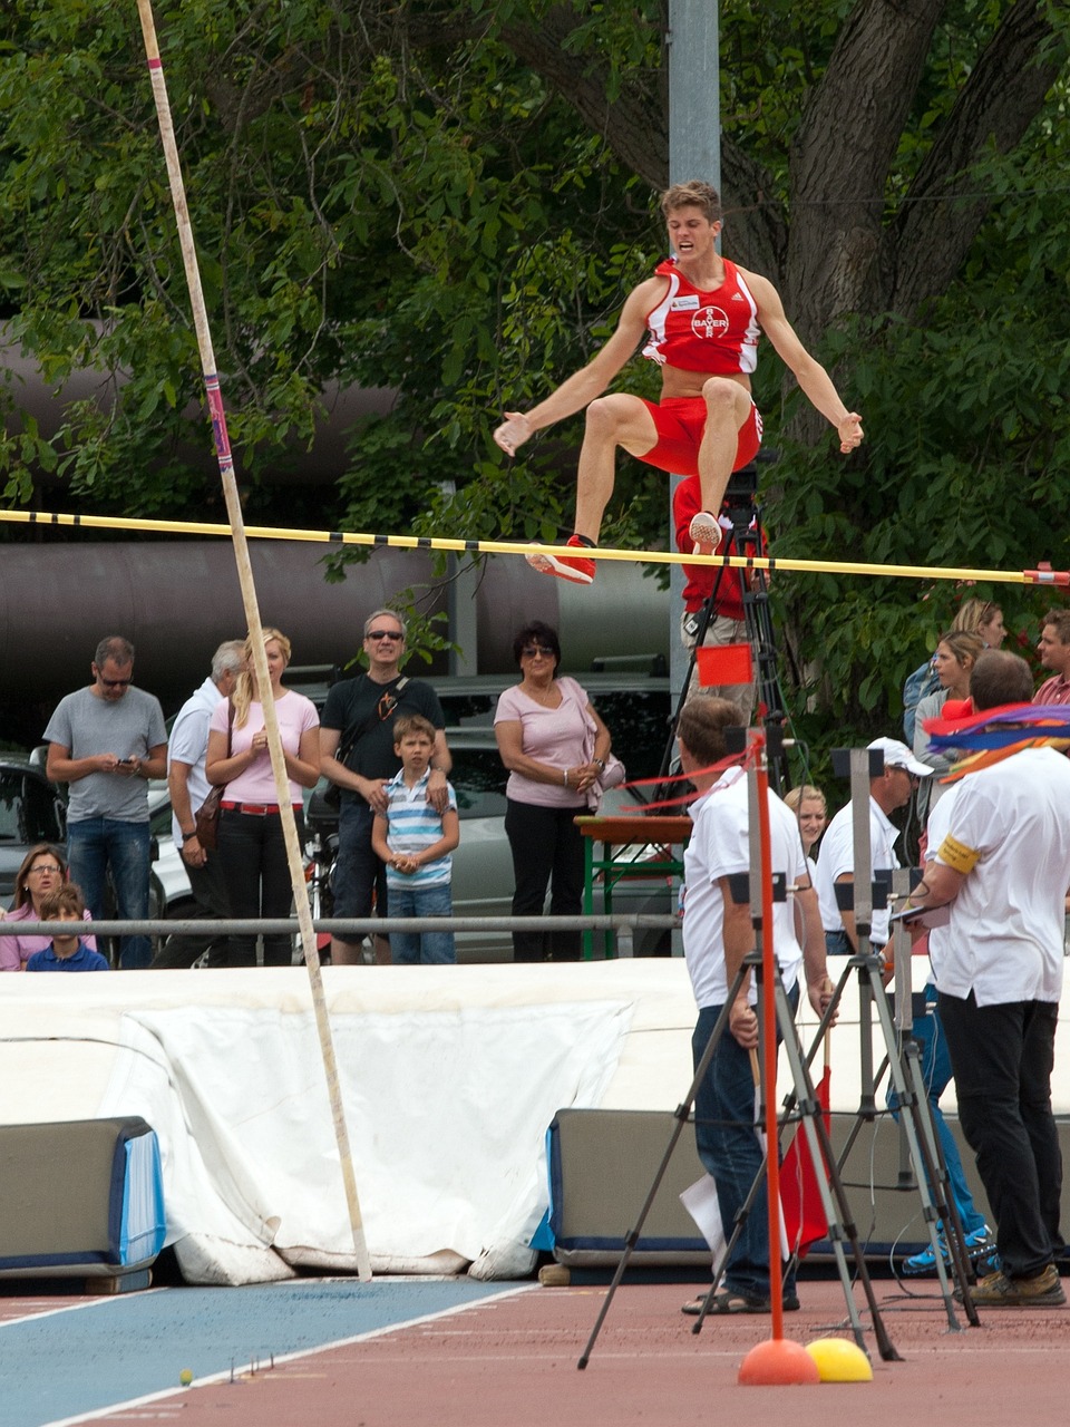
[[[387,916],[387,870],[371,845],[375,813],[385,813],[385,786],[401,768],[394,752],[394,721],[419,714],[435,728],[428,802],[445,812],[447,775],[452,766],[445,741],[445,715],[429,684],[401,672],[405,624],[392,609],[377,609],[364,621],[368,668],[342,679],[327,695],[320,721],[320,766],[338,788],[338,860],[334,872],[334,915],[368,918],[372,890],[379,916]],[[361,962],[361,936],[332,936],[335,966]],[[389,965],[389,942],[375,938],[375,960]]]

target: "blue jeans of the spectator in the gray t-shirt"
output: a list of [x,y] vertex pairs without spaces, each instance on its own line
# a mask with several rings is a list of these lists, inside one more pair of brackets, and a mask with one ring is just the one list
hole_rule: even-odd
[[[84,818],[67,823],[67,862],[94,920],[106,913],[104,888],[108,868],[116,889],[116,909],[123,920],[148,916],[148,878],[153,865],[147,822],[117,818]],[[123,970],[144,970],[153,962],[147,936],[124,936],[120,952]]]

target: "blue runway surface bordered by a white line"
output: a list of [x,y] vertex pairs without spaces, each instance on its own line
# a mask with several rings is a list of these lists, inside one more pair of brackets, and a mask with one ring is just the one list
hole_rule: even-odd
[[[315,1281],[163,1289],[0,1326],[0,1423],[44,1427],[194,1378],[267,1366],[509,1291],[509,1284]],[[515,1287],[515,1286],[512,1286]]]

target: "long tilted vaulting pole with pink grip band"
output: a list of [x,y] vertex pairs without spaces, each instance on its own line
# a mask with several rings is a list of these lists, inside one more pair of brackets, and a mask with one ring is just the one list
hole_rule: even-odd
[[[215,354],[208,330],[208,314],[204,305],[204,291],[201,288],[201,274],[197,264],[197,248],[193,241],[193,227],[190,225],[190,210],[185,203],[185,187],[183,184],[181,166],[178,163],[178,146],[174,137],[174,123],[171,120],[171,104],[167,97],[164,68],[160,59],[160,47],[156,39],[156,21],[150,0],[137,0],[137,13],[141,19],[141,34],[144,36],[146,59],[148,73],[153,80],[153,96],[160,121],[160,138],[167,160],[167,176],[171,183],[171,200],[178,225],[178,241],[185,265],[185,283],[190,290],[190,305],[197,331],[197,345],[201,354],[201,370],[204,374],[204,390],[211,414],[213,432],[215,437],[215,455],[220,462],[220,478],[223,494],[227,501],[227,517],[230,519],[230,535],[234,544],[234,559],[238,567],[238,581],[241,584],[241,599],[245,606],[245,619],[253,644],[253,665],[257,676],[257,686],[268,691],[271,678],[268,674],[267,655],[264,652],[264,629],[260,621],[260,606],[257,604],[257,589],[253,581],[253,567],[248,558],[248,544],[245,527],[241,518],[241,502],[238,501],[238,487],[234,479],[234,461],[230,452],[227,437],[227,417],[223,410],[220,394],[220,378],[215,372]],[[331,1114],[334,1119],[334,1133],[338,1143],[338,1157],[341,1160],[342,1183],[345,1186],[345,1200],[350,1210],[350,1226],[352,1229],[352,1243],[357,1256],[357,1271],[361,1279],[371,1279],[371,1260],[364,1240],[364,1224],[361,1222],[361,1206],[357,1197],[357,1179],[352,1169],[352,1154],[350,1150],[350,1134],[345,1126],[345,1112],[342,1109],[341,1086],[338,1083],[338,1062],[334,1055],[334,1040],[331,1037],[331,1022],[327,1015],[327,1000],[324,997],[324,983],[320,968],[320,952],[315,945],[312,930],[312,913],[308,905],[308,889],[305,886],[304,868],[301,862],[301,846],[297,841],[297,823],[290,796],[290,778],[287,776],[282,741],[278,733],[278,719],[275,716],[274,699],[263,696],[264,728],[268,736],[268,751],[271,753],[271,771],[275,776],[275,793],[278,796],[282,833],[285,836],[287,862],[290,865],[290,880],[294,889],[294,903],[297,919],[301,928],[301,942],[305,948],[305,965],[312,990],[312,1006],[315,1009],[315,1025],[320,1036],[320,1052],[322,1055],[324,1072],[327,1075],[327,1089],[331,1097]]]

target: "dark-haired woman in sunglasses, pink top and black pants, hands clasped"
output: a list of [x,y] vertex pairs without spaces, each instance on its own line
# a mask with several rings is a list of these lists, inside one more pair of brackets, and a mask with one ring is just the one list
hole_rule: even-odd
[[[514,916],[541,916],[551,885],[551,916],[578,916],[584,903],[584,839],[576,813],[609,756],[609,729],[575,679],[558,678],[556,629],[539,621],[512,642],[521,682],[498,699],[494,735],[509,771],[505,835],[516,890]],[[593,753],[589,753],[593,733]],[[515,962],[575,962],[581,933],[514,932]]]

